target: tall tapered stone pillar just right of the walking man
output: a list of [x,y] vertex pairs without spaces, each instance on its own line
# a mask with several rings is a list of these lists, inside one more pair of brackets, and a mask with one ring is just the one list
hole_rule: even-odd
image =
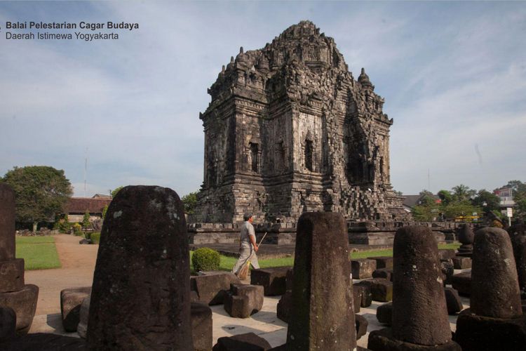
[[297,223],[289,350],[353,350],[351,265],[339,213],[303,213]]

